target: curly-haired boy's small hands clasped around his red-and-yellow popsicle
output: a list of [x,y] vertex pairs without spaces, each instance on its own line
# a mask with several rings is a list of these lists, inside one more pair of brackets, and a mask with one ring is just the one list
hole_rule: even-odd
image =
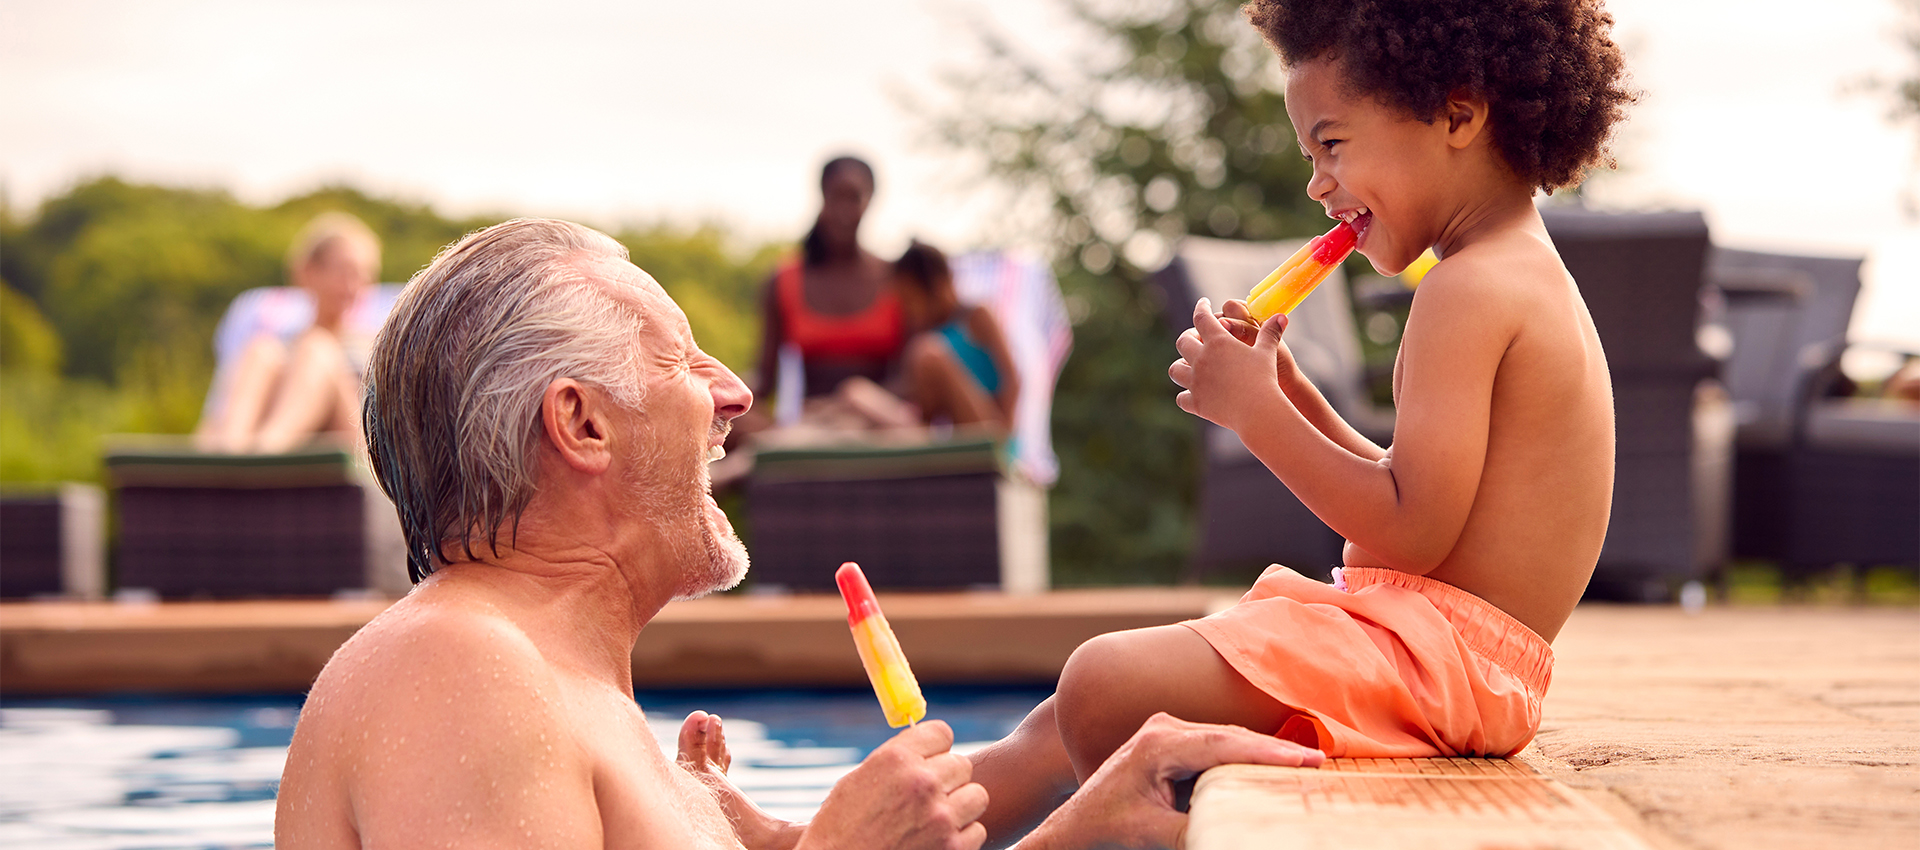
[[1261,403],[1284,399],[1275,370],[1284,330],[1284,315],[1267,319],[1260,326],[1260,338],[1248,347],[1235,340],[1202,297],[1194,305],[1194,328],[1173,343],[1181,359],[1173,361],[1167,376],[1187,390],[1175,403],[1181,411],[1238,432],[1238,424]]

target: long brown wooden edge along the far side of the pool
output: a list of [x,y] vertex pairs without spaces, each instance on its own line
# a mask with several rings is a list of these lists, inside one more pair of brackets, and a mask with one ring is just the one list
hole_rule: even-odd
[[[881,606],[927,683],[1052,683],[1089,637],[1231,604],[1206,587],[900,593]],[[0,697],[288,693],[392,601],[0,602]],[[826,687],[866,677],[833,595],[668,604],[634,647],[636,687]]]

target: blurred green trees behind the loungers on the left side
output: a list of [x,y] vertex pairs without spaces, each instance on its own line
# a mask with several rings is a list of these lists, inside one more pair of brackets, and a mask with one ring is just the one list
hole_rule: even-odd
[[[213,376],[213,328],[253,286],[286,284],[315,215],[361,217],[401,282],[445,244],[501,217],[326,186],[271,207],[219,190],[83,182],[33,215],[0,209],[0,484],[100,480],[102,436],[186,434]],[[737,249],[720,226],[616,232],[682,303],[701,343],[739,368],[758,343],[756,290],[778,248]]]

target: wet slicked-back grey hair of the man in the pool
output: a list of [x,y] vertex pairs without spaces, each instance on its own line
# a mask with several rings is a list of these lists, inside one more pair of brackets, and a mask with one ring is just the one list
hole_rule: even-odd
[[626,259],[580,224],[515,219],[474,230],[407,282],[367,363],[367,453],[420,581],[518,524],[538,482],[541,397],[557,378],[639,409],[641,317],[584,261]]

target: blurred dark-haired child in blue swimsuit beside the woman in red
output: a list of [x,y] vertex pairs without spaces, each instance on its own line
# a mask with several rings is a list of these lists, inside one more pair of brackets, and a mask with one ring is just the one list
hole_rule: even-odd
[[1000,322],[985,307],[960,303],[947,255],[933,246],[916,240],[893,271],[914,330],[902,353],[906,399],[927,422],[1006,434],[1020,397],[1020,372],[1006,353]]

